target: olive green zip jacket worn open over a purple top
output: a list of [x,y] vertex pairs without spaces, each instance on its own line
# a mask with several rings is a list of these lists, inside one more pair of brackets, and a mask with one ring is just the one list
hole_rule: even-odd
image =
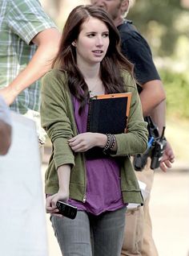
[[[74,153],[68,138],[78,134],[74,120],[74,109],[67,85],[66,72],[51,70],[42,79],[42,127],[52,142],[52,154],[46,170],[46,194],[58,192],[57,168],[70,164],[70,198],[86,199],[86,167],[83,153]],[[138,181],[135,177],[129,155],[143,153],[147,149],[147,123],[143,114],[135,81],[128,72],[123,72],[126,91],[132,93],[131,109],[126,134],[116,134],[118,150],[112,157],[118,157],[121,171],[123,202],[143,204]],[[127,86],[131,85],[131,86]]]

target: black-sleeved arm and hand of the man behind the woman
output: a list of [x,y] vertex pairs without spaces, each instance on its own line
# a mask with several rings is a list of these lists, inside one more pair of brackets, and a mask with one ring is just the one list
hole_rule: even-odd
[[[166,119],[166,93],[163,89],[163,83],[160,80],[159,73],[155,68],[151,48],[146,39],[144,39],[142,35],[139,35],[137,31],[131,30],[130,35],[127,35],[128,33],[123,36],[123,55],[127,56],[127,58],[135,64],[135,76],[143,88],[142,92],[139,94],[143,108],[143,116],[151,115],[156,125],[159,126],[159,132],[161,134]],[[161,161],[163,171],[166,171],[167,167],[171,167],[174,158],[175,156],[171,146],[167,142],[167,147]]]

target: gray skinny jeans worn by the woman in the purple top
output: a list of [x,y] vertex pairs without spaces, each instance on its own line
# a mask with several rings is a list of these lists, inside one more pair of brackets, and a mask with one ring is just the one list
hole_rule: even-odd
[[52,216],[63,256],[120,256],[127,207],[99,216],[78,211],[74,220]]

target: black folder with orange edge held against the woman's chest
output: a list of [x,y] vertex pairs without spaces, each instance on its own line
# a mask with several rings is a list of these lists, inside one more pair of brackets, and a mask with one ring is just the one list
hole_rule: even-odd
[[[103,94],[90,98],[86,131],[101,134],[125,133],[130,105],[131,93]],[[99,157],[97,152],[103,154],[101,148],[94,147],[86,152],[86,156]]]

